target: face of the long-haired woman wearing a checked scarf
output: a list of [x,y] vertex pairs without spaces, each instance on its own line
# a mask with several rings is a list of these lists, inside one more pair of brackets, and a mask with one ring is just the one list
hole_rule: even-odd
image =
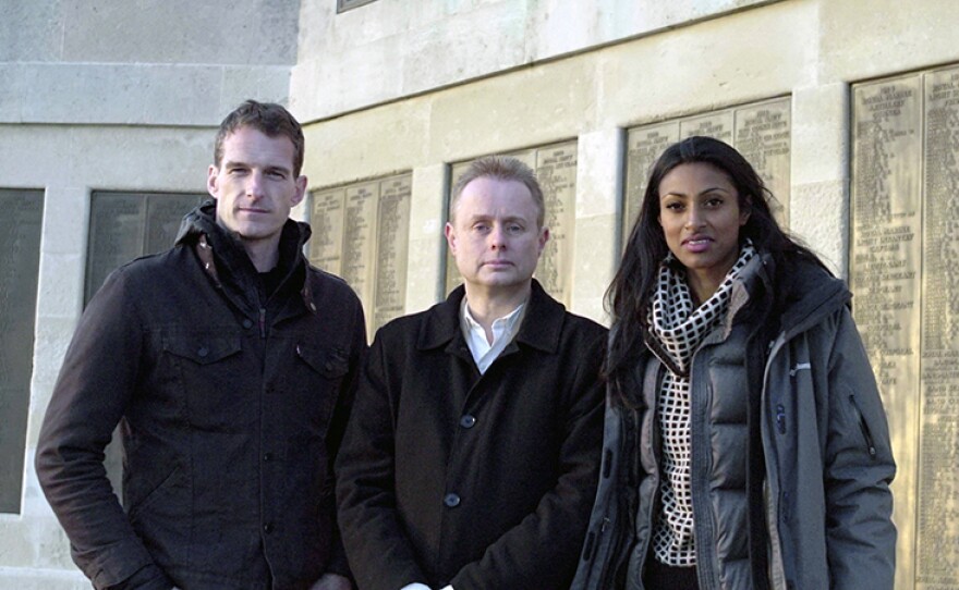
[[739,229],[749,219],[739,193],[719,169],[680,164],[659,183],[659,224],[666,245],[687,268],[700,302],[712,295],[739,257]]

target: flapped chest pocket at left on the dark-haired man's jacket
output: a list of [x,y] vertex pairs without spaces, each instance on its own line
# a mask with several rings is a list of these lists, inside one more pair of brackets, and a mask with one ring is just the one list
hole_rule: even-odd
[[259,367],[243,358],[240,334],[184,331],[163,336],[171,366],[171,390],[182,401],[191,426],[238,431],[255,419]]

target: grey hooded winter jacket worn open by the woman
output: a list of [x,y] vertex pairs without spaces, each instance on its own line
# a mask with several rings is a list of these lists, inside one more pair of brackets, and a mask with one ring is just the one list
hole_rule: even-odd
[[[726,321],[692,364],[700,588],[891,589],[895,464],[851,294],[811,262],[773,267],[763,255],[743,269]],[[787,296],[775,302],[776,293]],[[573,589],[644,588],[659,490],[648,408],[663,370],[643,351],[634,407],[607,392],[599,487]]]

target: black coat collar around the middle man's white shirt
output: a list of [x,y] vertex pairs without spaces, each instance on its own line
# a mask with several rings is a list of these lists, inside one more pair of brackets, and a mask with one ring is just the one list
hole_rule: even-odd
[[[454,288],[447,299],[426,312],[426,320],[420,329],[416,339],[416,348],[428,351],[439,348],[458,339],[463,339],[460,329],[460,305],[466,291],[463,285]],[[530,292],[523,323],[517,337],[507,349],[515,344],[523,344],[544,353],[556,353],[559,348],[559,340],[562,335],[566,307],[546,294],[539,283],[534,279]]]

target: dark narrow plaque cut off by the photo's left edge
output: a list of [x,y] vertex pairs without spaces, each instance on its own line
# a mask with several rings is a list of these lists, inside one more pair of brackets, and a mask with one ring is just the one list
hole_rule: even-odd
[[33,376],[43,190],[0,189],[0,513],[20,513]]

